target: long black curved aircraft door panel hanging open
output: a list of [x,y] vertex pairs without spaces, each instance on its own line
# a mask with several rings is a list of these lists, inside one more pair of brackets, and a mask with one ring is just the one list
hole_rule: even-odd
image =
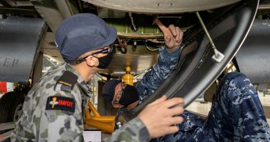
[[[189,37],[183,41],[185,47],[181,52],[177,71],[174,71],[141,105],[121,114],[125,121],[134,118],[147,104],[164,94],[168,98],[184,98],[186,103],[183,107],[187,107],[212,84],[226,64],[232,60],[249,33],[258,8],[258,0],[241,1],[233,8],[228,8],[226,14],[214,13],[208,18],[204,17],[217,50],[225,55],[222,62],[212,60],[214,51],[204,31],[200,27],[191,29]],[[223,11],[226,9],[222,9]]]

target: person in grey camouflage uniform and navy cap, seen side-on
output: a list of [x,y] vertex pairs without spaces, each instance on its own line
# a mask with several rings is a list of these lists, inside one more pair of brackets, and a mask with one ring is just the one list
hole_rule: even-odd
[[[175,27],[170,30],[177,32],[165,33],[169,33],[167,44],[174,50],[182,36]],[[115,39],[116,29],[96,15],[84,13],[65,19],[55,33],[55,44],[65,63],[53,66],[29,91],[11,141],[83,141],[84,112],[92,96],[87,82],[111,62],[108,45]],[[159,98],[103,141],[150,141],[177,132],[174,125],[183,119],[174,116],[181,114],[183,107],[171,107],[181,103],[181,98]],[[159,113],[153,113],[156,109]],[[160,124],[157,118],[170,123]]]

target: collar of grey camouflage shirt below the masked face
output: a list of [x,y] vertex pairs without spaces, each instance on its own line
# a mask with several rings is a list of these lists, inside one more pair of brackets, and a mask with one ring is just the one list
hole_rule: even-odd
[[78,76],[78,86],[88,95],[91,96],[92,94],[92,90],[89,87],[89,85],[84,82],[84,79],[82,78],[82,76],[80,76],[80,73],[78,73],[78,71],[76,69],[73,68],[73,66],[71,66],[71,64],[67,64],[65,63],[66,66],[66,70],[67,71],[71,71],[72,73],[74,73],[76,76]]

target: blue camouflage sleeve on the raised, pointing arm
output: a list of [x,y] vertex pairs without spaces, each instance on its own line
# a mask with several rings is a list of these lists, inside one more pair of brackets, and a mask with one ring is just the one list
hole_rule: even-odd
[[[155,64],[136,85],[139,95],[139,104],[141,104],[145,98],[152,95],[153,92],[163,83],[163,81],[168,78],[170,73],[177,69],[177,62],[179,60],[179,55],[182,48],[183,46],[181,45],[177,51],[174,51],[173,53],[169,53],[166,46],[159,48],[159,59],[157,64]],[[124,125],[123,122],[119,120],[119,116],[125,111],[125,108],[118,110],[115,118],[116,125],[114,130],[117,130],[119,127]]]

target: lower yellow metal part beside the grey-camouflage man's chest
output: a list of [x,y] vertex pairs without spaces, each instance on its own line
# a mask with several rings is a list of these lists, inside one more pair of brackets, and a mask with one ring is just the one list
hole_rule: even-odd
[[97,129],[100,129],[104,132],[114,132],[114,118],[116,118],[116,116],[100,116],[98,110],[93,106],[90,101],[88,102],[88,107],[93,115],[91,115],[90,111],[86,111],[86,124],[84,125],[84,127],[87,127],[88,125],[91,127],[96,127]]

